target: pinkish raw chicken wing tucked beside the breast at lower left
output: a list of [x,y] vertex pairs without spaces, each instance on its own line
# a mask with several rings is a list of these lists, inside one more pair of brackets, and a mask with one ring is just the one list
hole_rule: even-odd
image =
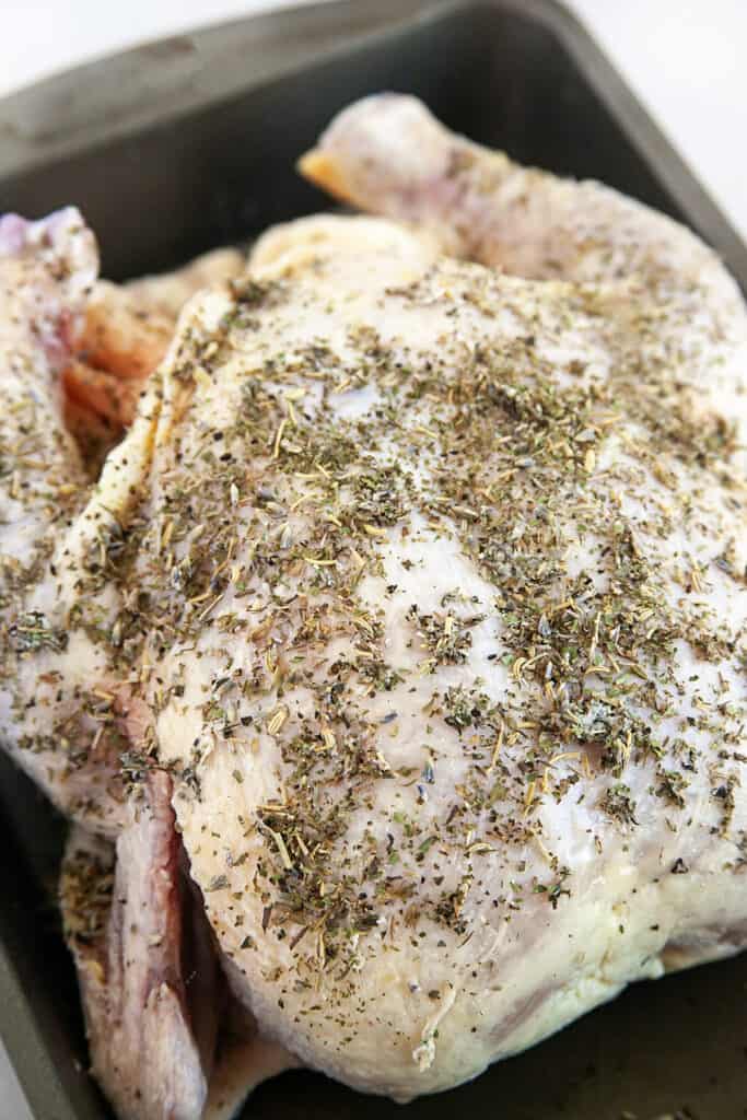
[[115,848],[83,829],[60,880],[92,1072],[123,1120],[227,1120],[298,1063],[228,992],[204,899],[153,772]]

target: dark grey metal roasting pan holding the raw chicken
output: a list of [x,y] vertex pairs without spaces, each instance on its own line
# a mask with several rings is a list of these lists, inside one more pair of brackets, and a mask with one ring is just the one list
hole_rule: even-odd
[[[552,0],[351,0],[239,20],[0,102],[0,212],[76,203],[114,279],[328,206],[296,157],[346,102],[418,94],[523,162],[603,179],[691,225],[747,290],[747,249],[586,31]],[[0,405],[1,407],[1,405]],[[37,1120],[105,1120],[54,888],[64,824],[0,759],[0,1034]],[[747,889],[747,880],[745,881]],[[747,953],[639,983],[469,1085],[402,1112],[310,1073],[253,1120],[747,1118]],[[0,1101],[0,1120],[15,1120]]]

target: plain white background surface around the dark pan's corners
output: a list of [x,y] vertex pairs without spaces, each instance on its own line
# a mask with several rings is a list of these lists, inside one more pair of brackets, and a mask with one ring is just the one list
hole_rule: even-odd
[[[747,0],[567,3],[747,236]],[[288,0],[0,0],[0,96],[111,50],[287,4]],[[0,1120],[30,1120],[1,1043]]]

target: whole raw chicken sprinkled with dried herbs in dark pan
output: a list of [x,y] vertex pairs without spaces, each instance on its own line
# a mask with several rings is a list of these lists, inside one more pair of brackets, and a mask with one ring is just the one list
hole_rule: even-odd
[[747,943],[734,281],[408,97],[301,170],[385,216],[190,299],[93,486],[92,235],[0,224],[0,737],[123,1120],[407,1101]]

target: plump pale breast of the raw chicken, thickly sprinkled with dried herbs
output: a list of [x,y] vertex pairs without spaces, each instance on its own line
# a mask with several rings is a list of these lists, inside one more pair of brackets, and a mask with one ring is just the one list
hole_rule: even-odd
[[[307,220],[197,296],[71,534],[123,542],[128,768],[168,772],[234,996],[408,1100],[747,941],[747,328],[704,246],[604,188],[538,177],[538,260],[589,200],[594,252],[526,279],[441,255],[452,212],[363,150],[420,232]],[[90,580],[47,573],[45,626]]]

